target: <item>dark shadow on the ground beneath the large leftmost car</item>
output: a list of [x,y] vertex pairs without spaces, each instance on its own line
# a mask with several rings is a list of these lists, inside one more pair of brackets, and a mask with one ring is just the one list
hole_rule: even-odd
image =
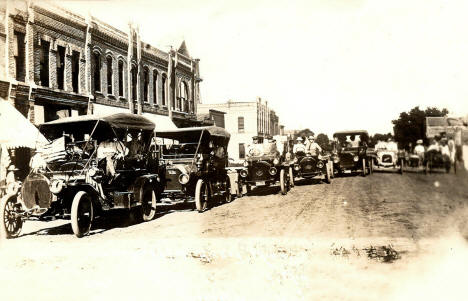
[[[153,220],[163,217],[172,212],[176,211],[193,211],[194,204],[191,202],[181,202],[173,205],[169,204],[158,204],[157,212]],[[70,220],[70,219],[64,219]],[[151,221],[148,221],[151,222]],[[143,223],[137,217],[136,210],[128,209],[115,209],[104,212],[102,215],[96,217],[93,221],[90,236],[100,234],[105,231],[116,229],[116,228],[127,228],[130,226],[138,225]],[[43,228],[37,231],[25,233],[21,236],[32,236],[32,235],[73,235],[71,223],[62,224],[59,226]],[[21,237],[20,236],[20,237]]]

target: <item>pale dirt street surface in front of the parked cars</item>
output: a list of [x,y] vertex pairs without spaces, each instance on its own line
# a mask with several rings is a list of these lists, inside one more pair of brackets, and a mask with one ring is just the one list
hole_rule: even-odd
[[[1,241],[1,300],[467,300],[468,177],[375,173],[257,189],[202,214],[124,213]],[[273,193],[273,194],[271,194]]]

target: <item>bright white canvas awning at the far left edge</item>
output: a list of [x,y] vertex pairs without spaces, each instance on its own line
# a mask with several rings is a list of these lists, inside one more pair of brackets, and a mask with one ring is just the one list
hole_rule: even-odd
[[0,143],[7,148],[36,148],[47,139],[13,105],[0,98]]

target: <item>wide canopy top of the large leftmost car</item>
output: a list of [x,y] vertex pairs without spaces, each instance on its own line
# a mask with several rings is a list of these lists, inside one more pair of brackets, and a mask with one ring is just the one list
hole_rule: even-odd
[[126,130],[153,131],[155,124],[147,118],[130,113],[117,113],[111,115],[82,115],[66,117],[43,123],[39,130],[49,139],[60,137],[63,133],[74,134],[76,138],[84,134],[93,137],[110,137],[113,132]]

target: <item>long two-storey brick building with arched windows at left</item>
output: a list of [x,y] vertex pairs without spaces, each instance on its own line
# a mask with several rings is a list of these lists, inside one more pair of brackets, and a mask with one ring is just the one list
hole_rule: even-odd
[[199,125],[199,60],[43,2],[0,2],[0,97],[31,122],[132,112],[167,127]]

